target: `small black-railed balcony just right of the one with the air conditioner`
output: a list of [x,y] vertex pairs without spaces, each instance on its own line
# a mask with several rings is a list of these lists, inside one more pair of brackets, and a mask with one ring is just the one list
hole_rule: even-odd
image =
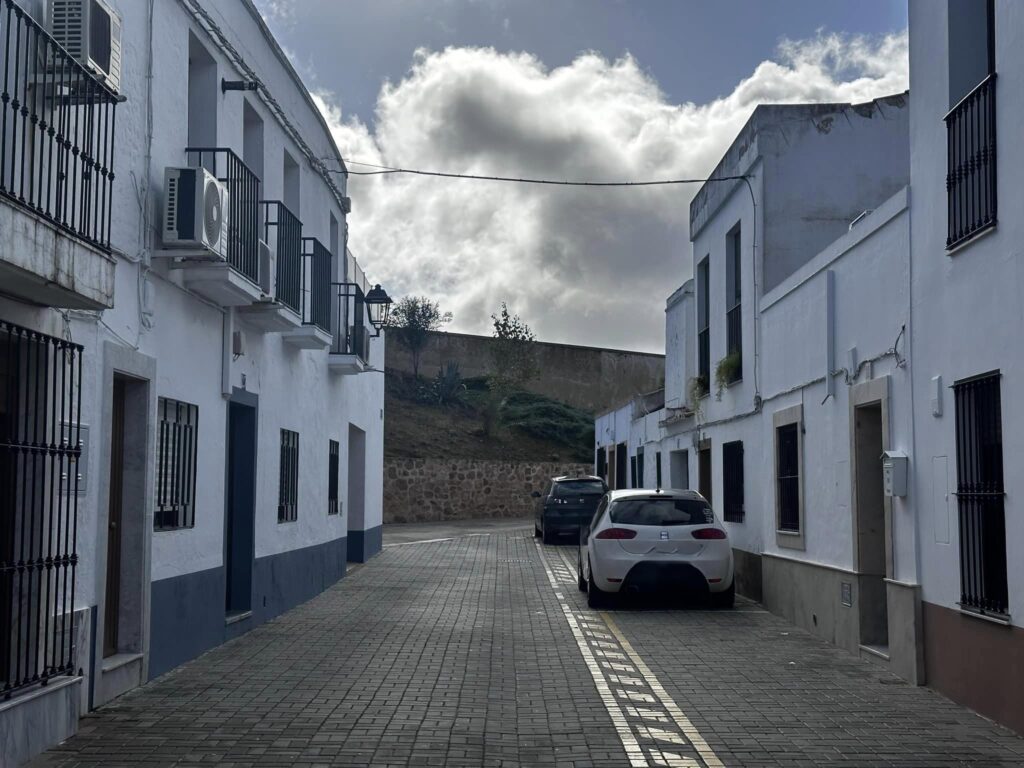
[[302,222],[280,201],[264,201],[259,299],[239,315],[263,331],[302,326]]

